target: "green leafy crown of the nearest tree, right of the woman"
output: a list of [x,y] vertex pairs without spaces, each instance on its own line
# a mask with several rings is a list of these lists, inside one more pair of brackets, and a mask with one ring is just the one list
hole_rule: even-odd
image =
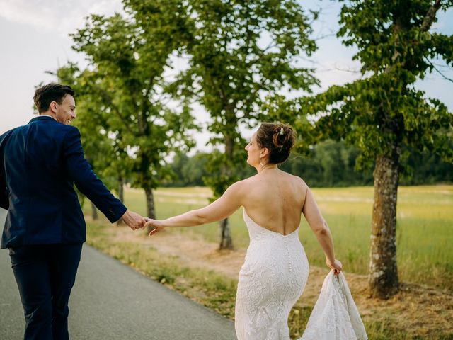
[[[396,153],[404,159],[405,148],[451,162],[453,115],[413,85],[432,71],[429,58],[453,66],[452,37],[429,31],[439,8],[428,0],[343,2],[338,36],[345,45],[358,47],[354,59],[362,62],[365,78],[287,103],[275,97],[268,111],[277,119],[302,124],[301,130],[314,141],[355,145],[362,169],[379,155]],[[452,1],[444,1],[440,8],[449,6]],[[307,117],[314,123],[306,125]]]

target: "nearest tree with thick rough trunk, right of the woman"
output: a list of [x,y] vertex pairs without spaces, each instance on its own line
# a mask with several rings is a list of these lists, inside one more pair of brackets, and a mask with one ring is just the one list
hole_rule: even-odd
[[435,69],[432,59],[453,64],[453,37],[430,32],[437,12],[453,1],[342,2],[338,36],[345,45],[357,46],[354,58],[362,62],[364,79],[297,101],[275,98],[268,108],[296,122],[306,122],[309,113],[314,123],[304,128],[317,140],[343,139],[360,149],[359,167],[374,164],[369,287],[372,296],[387,298],[398,291],[396,194],[407,156],[403,149],[453,159],[447,134],[452,114],[414,86]]

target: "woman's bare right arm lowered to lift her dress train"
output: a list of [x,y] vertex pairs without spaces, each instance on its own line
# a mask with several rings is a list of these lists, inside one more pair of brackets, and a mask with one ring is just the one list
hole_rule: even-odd
[[304,213],[306,222],[309,223],[311,230],[313,230],[316,235],[316,239],[318,239],[319,244],[321,244],[324,254],[326,254],[327,266],[335,269],[336,273],[339,273],[341,271],[341,263],[335,259],[331,229],[328,228],[326,220],[324,220],[321,215],[318,204],[316,204],[316,200],[309,188],[306,189],[305,203],[302,212]]

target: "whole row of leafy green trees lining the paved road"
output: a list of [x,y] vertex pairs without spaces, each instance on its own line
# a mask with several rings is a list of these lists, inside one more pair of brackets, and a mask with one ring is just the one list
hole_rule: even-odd
[[[316,96],[282,95],[310,94],[318,84],[314,70],[298,63],[316,50],[317,13],[294,0],[123,0],[124,15],[90,16],[72,35],[88,67],[68,64],[57,77],[78,93],[77,125],[96,171],[120,188],[125,179],[144,188],[150,217],[153,189],[169,178],[165,159],[194,145],[194,103],[211,117],[217,152],[204,162],[214,198],[240,178],[240,125],[292,123],[306,153],[327,139],[354,145],[357,165],[374,166],[369,282],[374,296],[389,297],[398,290],[396,191],[404,150],[453,157],[452,115],[413,86],[432,71],[430,60],[453,64],[453,37],[430,31],[453,1],[341,2],[338,36],[357,47],[364,77]],[[220,227],[220,247],[229,248],[228,220]]]

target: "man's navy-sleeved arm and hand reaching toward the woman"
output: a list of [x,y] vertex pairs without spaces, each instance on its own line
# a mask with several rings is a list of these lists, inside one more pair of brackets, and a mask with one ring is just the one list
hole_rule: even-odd
[[64,137],[64,162],[69,178],[74,181],[79,191],[103,212],[110,222],[113,223],[123,218],[132,229],[143,227],[146,222],[144,218],[127,210],[125,205],[110,193],[91,169],[84,157],[80,132],[77,128],[71,127]]

